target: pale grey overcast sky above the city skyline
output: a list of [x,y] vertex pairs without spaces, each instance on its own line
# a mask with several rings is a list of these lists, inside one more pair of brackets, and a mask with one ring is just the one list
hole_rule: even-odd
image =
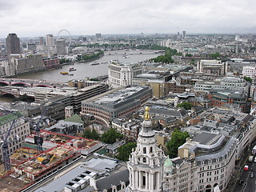
[[[255,0],[0,0],[0,38],[256,33]],[[65,35],[64,33],[62,33]]]

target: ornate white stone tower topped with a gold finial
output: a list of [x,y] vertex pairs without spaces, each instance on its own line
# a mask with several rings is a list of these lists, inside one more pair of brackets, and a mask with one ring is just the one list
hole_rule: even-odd
[[130,171],[130,185],[126,191],[157,192],[162,190],[163,164],[166,156],[157,146],[150,121],[149,107],[146,107],[142,130],[138,134],[136,150],[127,163]]

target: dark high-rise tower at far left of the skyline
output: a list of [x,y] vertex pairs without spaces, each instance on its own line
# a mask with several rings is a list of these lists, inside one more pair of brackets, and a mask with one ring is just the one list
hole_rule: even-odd
[[6,38],[7,54],[20,54],[21,46],[17,34],[9,34]]

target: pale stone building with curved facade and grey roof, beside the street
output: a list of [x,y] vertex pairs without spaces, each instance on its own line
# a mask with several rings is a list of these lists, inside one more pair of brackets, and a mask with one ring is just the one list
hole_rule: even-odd
[[236,141],[222,134],[202,133],[178,147],[178,158],[167,159],[165,190],[222,191],[234,173]]

